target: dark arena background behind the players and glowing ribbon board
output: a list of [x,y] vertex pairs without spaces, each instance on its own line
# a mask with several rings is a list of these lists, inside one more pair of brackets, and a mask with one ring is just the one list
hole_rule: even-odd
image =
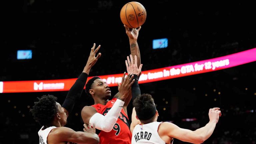
[[[5,82],[77,78],[93,43],[101,45],[102,56],[89,76],[126,71],[130,46],[120,10],[128,2],[24,0],[2,5],[7,15],[1,21],[0,144],[38,144],[41,126],[29,112],[34,101],[52,94],[62,104],[68,93],[5,92]],[[138,2],[147,11],[138,37],[142,71],[186,65],[256,47],[253,2]],[[162,38],[168,39],[168,46],[153,49],[152,41]],[[32,58],[17,59],[17,50],[32,50]],[[216,71],[139,85],[142,93],[153,96],[158,121],[196,130],[208,123],[209,108],[220,107],[222,116],[204,144],[255,144],[255,67],[255,60],[251,60]],[[110,88],[112,96],[118,92],[117,86]],[[66,126],[83,131],[81,109],[91,104],[93,99],[83,91]],[[129,117],[131,109],[130,104]],[[174,143],[185,142],[175,139]]]

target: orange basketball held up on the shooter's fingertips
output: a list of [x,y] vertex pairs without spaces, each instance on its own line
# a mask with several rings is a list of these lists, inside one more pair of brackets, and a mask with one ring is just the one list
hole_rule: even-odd
[[144,24],[147,12],[144,6],[138,2],[129,2],[123,6],[120,12],[123,24],[129,28],[137,28]]

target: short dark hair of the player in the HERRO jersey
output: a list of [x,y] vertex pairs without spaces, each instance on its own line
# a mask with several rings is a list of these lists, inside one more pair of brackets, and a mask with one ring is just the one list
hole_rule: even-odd
[[154,119],[156,106],[150,94],[139,95],[134,101],[136,115],[140,120],[151,121]]

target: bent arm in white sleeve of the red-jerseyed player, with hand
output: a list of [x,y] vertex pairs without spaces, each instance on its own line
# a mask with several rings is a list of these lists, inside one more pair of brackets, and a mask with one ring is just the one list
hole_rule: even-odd
[[84,123],[95,124],[95,127],[99,130],[103,130],[105,132],[110,132],[123,108],[124,101],[127,98],[129,92],[131,91],[131,86],[134,83],[133,76],[130,77],[130,74],[125,78],[125,73],[122,78],[122,83],[118,83],[118,91],[120,93],[119,97],[117,97],[116,102],[109,110],[109,112],[103,116],[92,107],[84,107],[81,116]]

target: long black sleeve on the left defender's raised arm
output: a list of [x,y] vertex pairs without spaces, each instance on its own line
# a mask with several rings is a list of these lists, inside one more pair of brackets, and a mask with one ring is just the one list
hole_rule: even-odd
[[65,101],[62,104],[62,107],[65,108],[68,113],[70,114],[76,100],[80,99],[81,94],[83,92],[85,83],[87,81],[88,74],[87,73],[81,73],[76,82],[73,84],[73,86],[68,91],[68,95],[65,99]]

